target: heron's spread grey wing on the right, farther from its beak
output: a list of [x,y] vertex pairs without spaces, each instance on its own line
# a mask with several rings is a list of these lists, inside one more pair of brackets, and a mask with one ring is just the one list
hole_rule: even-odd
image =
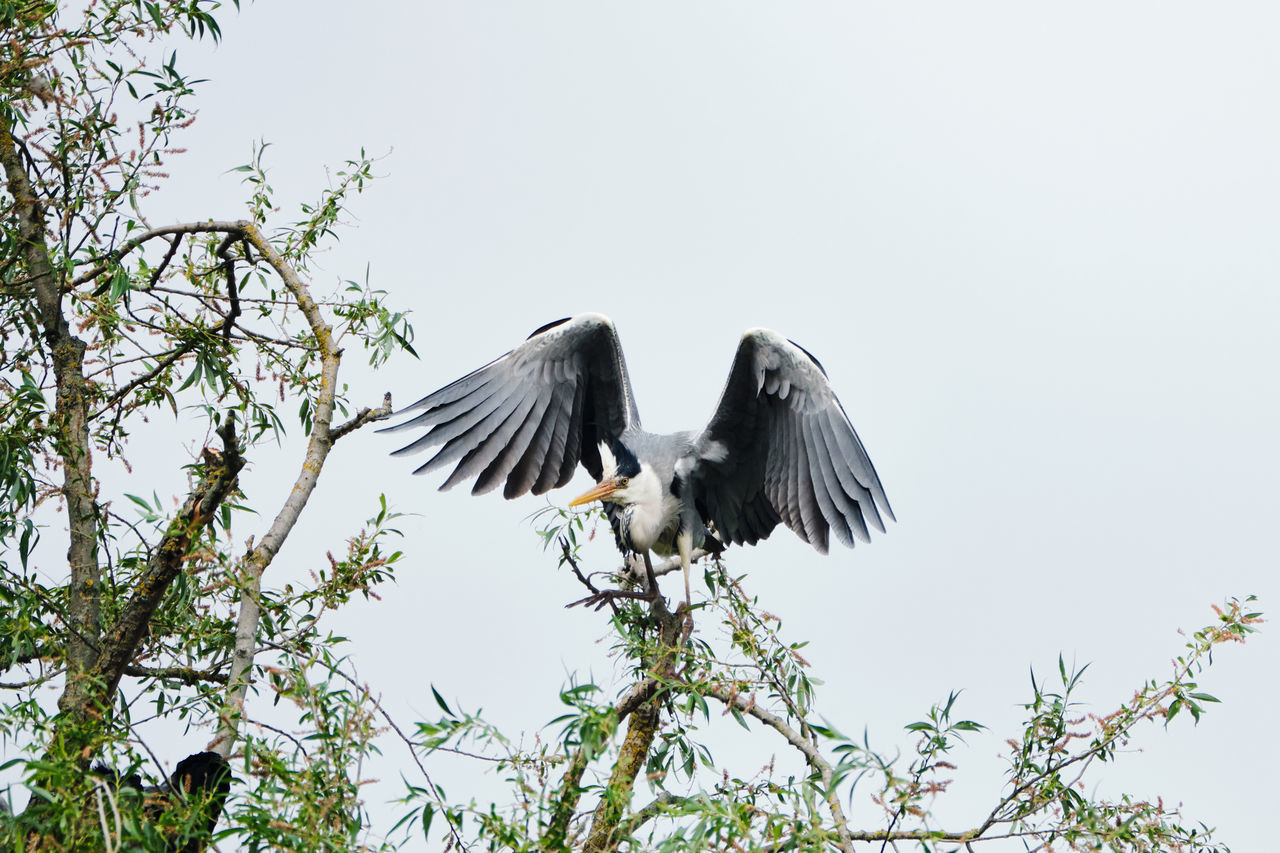
[[754,544],[783,521],[826,553],[831,530],[852,547],[893,519],[827,371],[768,329],[742,336],[695,455],[694,497],[726,542]]

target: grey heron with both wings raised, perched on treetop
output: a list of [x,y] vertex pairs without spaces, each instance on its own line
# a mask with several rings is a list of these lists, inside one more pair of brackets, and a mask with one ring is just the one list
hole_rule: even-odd
[[701,430],[644,430],[617,329],[603,314],[540,327],[397,415],[412,412],[379,432],[426,430],[392,455],[439,447],[413,473],[454,465],[440,491],[474,480],[472,494],[498,485],[508,500],[544,494],[581,465],[596,485],[570,506],[603,503],[620,551],[644,558],[654,596],[649,552],[678,555],[686,606],[695,548],[756,544],[782,523],[826,553],[831,534],[852,547],[895,520],[826,369],[764,328],[742,334]]

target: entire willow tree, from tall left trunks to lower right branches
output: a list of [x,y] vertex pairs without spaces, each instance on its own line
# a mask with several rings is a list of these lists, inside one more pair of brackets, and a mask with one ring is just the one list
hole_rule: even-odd
[[[662,599],[600,611],[620,684],[563,688],[564,715],[532,745],[439,694],[438,719],[407,725],[385,713],[326,628],[392,576],[399,553],[385,502],[311,585],[264,581],[323,493],[330,452],[346,451],[338,439],[390,411],[389,398],[348,400],[344,348],[358,343],[375,364],[412,353],[412,330],[384,293],[348,282],[317,297],[308,280],[371,164],[364,154],[349,161],[283,225],[264,146],[241,167],[247,218],[193,210],[188,222],[152,224],[143,213],[193,115],[196,85],[174,44],[220,37],[216,12],[212,0],[101,0],[84,12],[0,4],[0,731],[20,747],[6,768],[22,777],[10,785],[6,847],[202,849],[216,822],[225,848],[389,848],[370,835],[360,766],[399,740],[415,772],[393,835],[447,848],[957,849],[1016,839],[1213,849],[1158,802],[1098,799],[1083,783],[1137,726],[1198,719],[1213,702],[1196,679],[1216,646],[1253,630],[1247,601],[1229,602],[1170,678],[1108,716],[1073,710],[1083,671],[1060,661],[1056,676],[1033,680],[1005,790],[961,827],[931,816],[954,770],[948,751],[980,727],[957,717],[956,695],[908,726],[914,756],[890,758],[869,738],[846,736],[817,711],[803,643],[717,557],[704,564],[710,596],[692,611]],[[238,474],[248,460],[291,452],[283,412],[294,407],[300,471],[270,507],[241,492]],[[198,447],[184,494],[110,489],[113,466],[178,432]],[[557,515],[544,537],[594,594],[579,551],[586,523]],[[65,561],[51,556],[64,526]],[[56,707],[41,701],[47,684],[60,685]],[[225,808],[174,795],[201,788],[195,765],[143,784],[143,771],[168,774],[150,768],[122,685],[155,716],[205,733],[191,758],[207,745],[232,760]],[[283,720],[255,711],[268,699],[285,699]],[[704,731],[730,720],[772,739],[777,763],[735,775],[717,762]],[[509,802],[452,798],[434,779],[444,753],[504,774]],[[877,825],[846,818],[855,793],[879,804]]]

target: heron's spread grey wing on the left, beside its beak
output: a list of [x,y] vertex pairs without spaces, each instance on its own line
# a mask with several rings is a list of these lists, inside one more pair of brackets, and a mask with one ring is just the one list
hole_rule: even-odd
[[442,446],[413,473],[456,461],[442,491],[475,478],[471,493],[483,494],[506,480],[508,498],[564,485],[579,462],[599,479],[599,442],[640,425],[618,334],[600,314],[549,323],[398,414],[419,410],[380,430],[430,430],[392,456]]

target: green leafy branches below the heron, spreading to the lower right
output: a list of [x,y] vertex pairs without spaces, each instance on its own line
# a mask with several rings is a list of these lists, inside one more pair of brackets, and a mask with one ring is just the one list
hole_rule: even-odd
[[[552,510],[540,535],[559,542],[562,566],[594,585],[577,562],[586,532],[582,515]],[[620,578],[627,581],[627,578]],[[1091,772],[1110,761],[1143,724],[1169,722],[1194,702],[1203,712],[1213,702],[1197,676],[1216,647],[1245,639],[1261,619],[1252,598],[1215,607],[1213,625],[1197,631],[1175,661],[1169,679],[1151,680],[1107,715],[1078,710],[1084,669],[1060,658],[1052,683],[1032,675],[1032,698],[1021,731],[1009,739],[1005,788],[992,809],[963,829],[942,829],[933,812],[957,771],[954,753],[980,722],[957,717],[957,693],[905,726],[915,736],[910,756],[887,754],[869,738],[852,739],[815,719],[820,683],[801,654],[804,643],[783,637],[782,625],[746,592],[746,579],[712,560],[705,569],[712,597],[695,607],[703,631],[682,635],[676,662],[655,662],[663,648],[655,626],[662,608],[628,602],[611,620],[620,661],[630,663],[616,690],[595,683],[561,689],[564,713],[548,721],[534,748],[498,731],[479,713],[456,713],[436,693],[438,720],[421,722],[411,739],[424,763],[451,752],[492,762],[511,785],[507,808],[451,800],[440,785],[410,784],[410,813],[398,829],[404,838],[433,831],[445,847],[461,849],[852,849],[904,845],[920,850],[975,849],[1018,840],[1027,849],[1221,850],[1202,825],[1133,795],[1117,800],[1089,794]],[[716,631],[703,639],[708,626]],[[611,695],[616,698],[611,699]],[[637,701],[639,697],[639,701]],[[646,753],[644,788],[650,799],[631,807],[639,792],[617,789],[625,760],[627,722],[644,702],[660,708],[660,724]],[[713,713],[712,708],[719,711]],[[1196,717],[1198,719],[1198,717]],[[732,724],[728,721],[732,720]],[[732,756],[717,760],[708,729],[737,725],[755,738],[772,736],[776,754],[754,774],[742,774]],[[626,731],[626,734],[623,734]],[[795,758],[786,760],[785,753]],[[799,765],[795,763],[799,760]],[[425,771],[424,771],[425,776]],[[854,829],[841,803],[856,797],[878,804],[883,825]],[[600,847],[602,804],[621,797],[614,826]],[[580,803],[588,803],[580,808]],[[563,806],[571,803],[568,815]],[[444,816],[440,830],[439,816]],[[557,821],[562,822],[558,825]],[[435,827],[433,830],[433,827]]]

